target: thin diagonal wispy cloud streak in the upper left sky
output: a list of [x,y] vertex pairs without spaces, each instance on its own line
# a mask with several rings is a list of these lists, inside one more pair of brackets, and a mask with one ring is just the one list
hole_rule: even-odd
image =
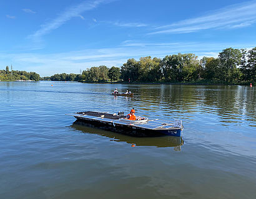
[[94,0],[94,1],[84,1],[76,6],[69,7],[62,14],[59,14],[52,21],[42,24],[41,29],[37,30],[34,34],[29,35],[29,38],[38,41],[45,34],[48,34],[54,29],[59,28],[62,24],[72,19],[72,17],[81,17],[82,12],[90,11],[100,4],[112,2],[114,0]]

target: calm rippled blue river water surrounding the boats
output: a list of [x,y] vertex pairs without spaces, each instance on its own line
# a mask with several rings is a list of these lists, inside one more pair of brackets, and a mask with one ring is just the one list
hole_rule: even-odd
[[[0,101],[0,198],[256,198],[255,87],[0,82]],[[131,108],[182,119],[184,135],[124,136],[65,115]]]

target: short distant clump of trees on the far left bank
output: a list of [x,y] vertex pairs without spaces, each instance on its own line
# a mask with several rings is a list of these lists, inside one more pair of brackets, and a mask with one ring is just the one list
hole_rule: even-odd
[[39,81],[40,76],[35,72],[26,72],[19,70],[9,70],[9,67],[6,67],[6,70],[0,70],[0,80],[1,81],[15,81],[15,80],[33,80]]

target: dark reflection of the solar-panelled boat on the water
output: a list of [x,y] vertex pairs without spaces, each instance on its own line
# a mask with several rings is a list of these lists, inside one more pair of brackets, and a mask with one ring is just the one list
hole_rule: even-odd
[[121,134],[120,132],[106,131],[100,127],[94,126],[92,124],[83,123],[78,119],[70,126],[76,130],[98,134],[101,136],[111,138],[110,141],[114,142],[126,142],[134,146],[155,146],[155,147],[174,147],[174,150],[181,150],[181,146],[184,144],[182,137],[174,136],[159,136],[159,137],[134,137]]

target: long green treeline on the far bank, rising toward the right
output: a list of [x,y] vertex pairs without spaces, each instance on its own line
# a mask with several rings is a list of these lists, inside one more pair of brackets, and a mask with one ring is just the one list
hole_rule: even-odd
[[256,83],[256,47],[252,50],[224,49],[217,58],[198,57],[192,53],[167,55],[164,58],[130,58],[119,67],[91,67],[76,74],[56,74],[44,80],[82,82],[143,83]]

